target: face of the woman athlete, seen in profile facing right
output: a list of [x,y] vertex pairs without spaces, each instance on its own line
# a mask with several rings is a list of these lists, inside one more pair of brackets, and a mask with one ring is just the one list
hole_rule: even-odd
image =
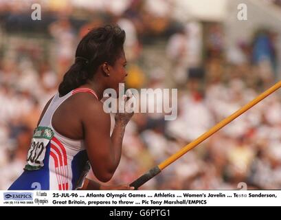
[[117,58],[115,63],[110,68],[110,82],[109,87],[115,89],[117,97],[119,94],[119,84],[125,83],[125,78],[128,75],[126,72],[126,57],[124,52],[121,53],[120,57]]

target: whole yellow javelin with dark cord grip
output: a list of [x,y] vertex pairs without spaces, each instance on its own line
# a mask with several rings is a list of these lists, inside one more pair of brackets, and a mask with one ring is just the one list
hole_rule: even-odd
[[139,186],[142,186],[145,184],[148,180],[152,179],[155,177],[157,174],[161,173],[161,170],[172,164],[172,162],[175,162],[179,157],[182,155],[188,153],[192,148],[206,140],[208,137],[216,133],[216,131],[222,129],[225,125],[229,124],[229,122],[232,122],[234,119],[238,118],[238,116],[242,115],[245,113],[245,111],[248,111],[253,107],[255,104],[272,94],[274,91],[279,89],[281,87],[281,81],[276,83],[276,85],[273,85],[273,87],[270,87],[266,91],[264,91],[262,94],[260,94],[258,97],[254,98],[254,100],[251,100],[251,102],[245,104],[242,108],[240,108],[238,111],[234,112],[232,115],[229,115],[227,118],[222,120],[221,122],[218,122],[215,126],[213,126],[209,131],[206,131],[203,133],[203,135],[197,137],[193,142],[190,142],[190,144],[184,146],[179,150],[177,153],[171,155],[168,157],[168,159],[164,160],[164,162],[161,162],[161,164],[155,166],[154,168],[148,170],[147,173],[133,181],[130,186],[134,186],[135,189],[139,188]]

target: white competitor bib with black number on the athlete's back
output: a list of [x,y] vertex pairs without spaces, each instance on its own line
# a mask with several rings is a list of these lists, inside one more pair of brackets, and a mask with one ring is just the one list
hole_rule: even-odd
[[32,137],[30,150],[27,153],[25,170],[38,170],[44,166],[46,146],[54,136],[52,129],[47,126],[38,126]]

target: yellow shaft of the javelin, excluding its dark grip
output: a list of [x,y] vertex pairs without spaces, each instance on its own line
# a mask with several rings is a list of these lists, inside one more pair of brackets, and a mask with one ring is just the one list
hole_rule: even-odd
[[221,122],[219,122],[218,124],[213,126],[212,129],[203,133],[203,135],[198,137],[196,140],[194,140],[193,142],[190,142],[190,144],[181,148],[180,151],[178,151],[174,155],[168,157],[168,159],[164,160],[164,162],[161,162],[161,164],[158,165],[159,169],[163,170],[164,168],[166,168],[166,166],[169,166],[170,164],[172,164],[172,162],[175,162],[177,159],[179,159],[179,157],[181,157],[182,155],[184,155],[185,153],[190,151],[192,148],[194,148],[195,146],[197,146],[198,144],[200,144],[201,142],[206,140],[208,137],[210,137],[211,135],[216,133],[216,131],[220,130],[225,125],[229,124],[229,122],[232,122],[238,116],[242,115],[245,111],[251,109],[251,107],[253,107],[255,104],[257,104],[258,102],[260,102],[261,100],[263,100],[264,98],[269,96],[270,94],[272,94],[273,91],[276,91],[280,87],[281,87],[281,81],[276,83],[276,85],[273,85],[273,87],[270,87],[269,89],[267,89],[267,91],[264,91],[262,94],[260,94],[254,100],[251,100],[251,102],[249,102],[248,104],[245,104],[242,108],[240,108],[238,111],[236,111],[232,115],[229,115],[227,118],[225,118],[224,120],[222,120]]

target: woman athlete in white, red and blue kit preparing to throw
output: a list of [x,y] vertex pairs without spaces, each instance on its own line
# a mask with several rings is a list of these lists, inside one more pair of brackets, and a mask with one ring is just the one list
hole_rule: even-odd
[[43,109],[24,171],[9,190],[132,189],[85,178],[91,166],[98,180],[109,181],[120,162],[133,113],[116,113],[110,135],[111,118],[100,100],[105,89],[118,94],[119,83],[125,81],[124,40],[124,30],[112,25],[82,38],[75,63]]

